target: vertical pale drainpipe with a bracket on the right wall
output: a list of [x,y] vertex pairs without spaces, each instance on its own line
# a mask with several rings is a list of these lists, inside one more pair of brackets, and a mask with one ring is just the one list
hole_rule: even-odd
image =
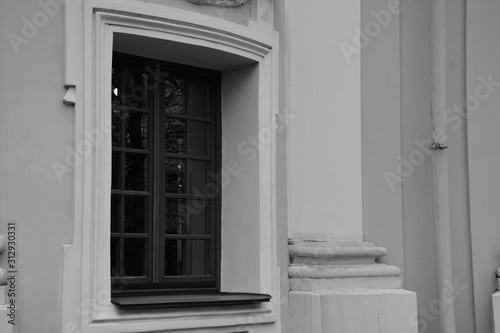
[[446,0],[431,0],[432,138],[436,275],[441,333],[456,333],[446,146]]

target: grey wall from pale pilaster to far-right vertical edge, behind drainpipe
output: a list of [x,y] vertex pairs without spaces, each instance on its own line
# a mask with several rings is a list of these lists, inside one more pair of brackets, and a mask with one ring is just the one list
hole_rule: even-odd
[[[362,26],[382,22],[362,49],[363,236],[387,247],[404,287],[417,292],[420,332],[437,332],[431,138],[429,1],[362,2]],[[447,2],[448,107],[465,99],[465,1]],[[377,19],[378,17],[378,19]],[[385,26],[384,26],[385,25]],[[466,120],[450,122],[450,205],[458,332],[475,332]],[[456,128],[455,128],[456,127]],[[423,159],[421,157],[424,157]],[[397,177],[401,177],[398,179]],[[483,273],[484,274],[484,273]],[[486,331],[485,331],[486,332]]]

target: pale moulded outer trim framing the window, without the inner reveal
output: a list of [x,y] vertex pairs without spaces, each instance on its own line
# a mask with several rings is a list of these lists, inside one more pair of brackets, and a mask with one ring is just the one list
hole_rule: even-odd
[[[73,4],[72,16],[83,9],[83,31],[67,22],[67,41],[83,38],[83,55],[67,45],[67,82],[76,85],[76,143],[84,133],[103,129],[109,120],[114,33],[129,33],[217,49],[259,65],[258,127],[272,128],[277,103],[277,56],[274,31],[255,32],[237,24],[164,6],[136,1],[85,1]],[[68,7],[69,10],[69,7]],[[146,18],[147,17],[147,18]],[[80,46],[81,49],[81,46]],[[73,57],[74,56],[74,57]],[[81,62],[80,62],[81,61]],[[79,68],[83,68],[80,72]],[[78,87],[83,89],[79,90]],[[74,244],[64,247],[61,268],[60,331],[74,324],[78,332],[152,332],[275,322],[279,305],[219,309],[148,310],[120,313],[110,303],[109,252],[111,140],[94,145],[75,168]],[[275,138],[259,152],[260,292],[280,290],[276,270]],[[81,279],[81,281],[80,281]],[[94,300],[89,306],[88,300]],[[78,312],[72,309],[79,309]],[[89,310],[89,311],[86,311]],[[168,320],[166,320],[168,319]],[[147,324],[145,324],[147,323]]]

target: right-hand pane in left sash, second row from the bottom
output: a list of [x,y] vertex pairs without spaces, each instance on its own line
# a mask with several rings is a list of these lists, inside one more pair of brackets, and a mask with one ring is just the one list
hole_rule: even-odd
[[125,196],[125,232],[147,233],[148,198],[140,196]]

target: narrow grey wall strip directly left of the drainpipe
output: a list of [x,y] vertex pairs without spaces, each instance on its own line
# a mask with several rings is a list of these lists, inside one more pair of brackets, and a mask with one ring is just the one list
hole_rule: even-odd
[[[405,160],[431,138],[429,1],[403,1],[401,12],[401,156]],[[417,293],[419,307],[437,297],[432,169],[403,166],[404,286]],[[438,318],[420,313],[420,332],[438,332]]]

